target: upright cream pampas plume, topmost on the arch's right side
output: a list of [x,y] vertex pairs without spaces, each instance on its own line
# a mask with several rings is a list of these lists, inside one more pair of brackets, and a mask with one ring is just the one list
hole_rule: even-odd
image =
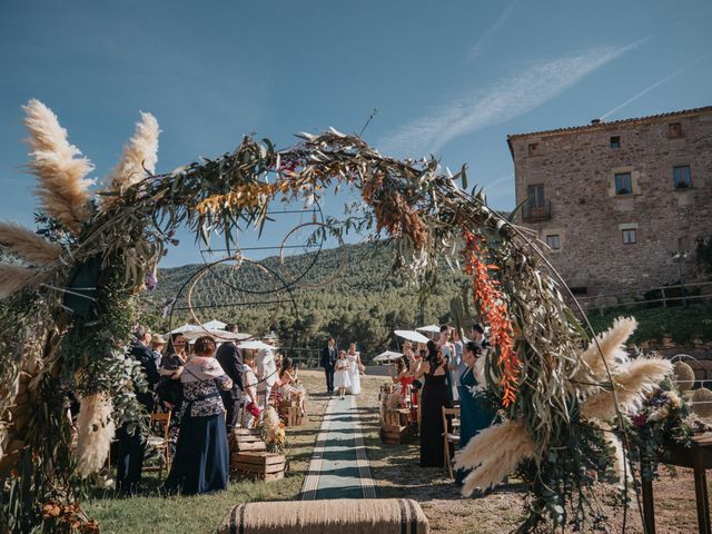
[[[607,382],[606,364],[613,373],[615,367],[620,365],[619,360],[625,362],[627,359],[627,353],[625,353],[623,347],[636,327],[637,322],[634,317],[619,317],[615,319],[609,330],[596,336],[597,345],[595,340],[592,340],[583,352],[581,360],[585,366],[576,375],[574,380],[585,382],[593,378],[595,380]],[[599,350],[599,348],[601,350]],[[603,354],[603,358],[601,358],[601,354]]]

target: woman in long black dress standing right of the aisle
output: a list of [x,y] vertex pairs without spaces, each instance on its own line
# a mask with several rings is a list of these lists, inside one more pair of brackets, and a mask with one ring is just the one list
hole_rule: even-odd
[[451,407],[445,377],[447,362],[435,342],[427,343],[427,357],[415,378],[425,377],[421,396],[421,467],[443,467],[443,407]]

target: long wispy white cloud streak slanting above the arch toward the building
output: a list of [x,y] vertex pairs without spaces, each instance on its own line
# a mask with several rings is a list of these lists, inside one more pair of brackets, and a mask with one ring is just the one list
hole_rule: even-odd
[[377,145],[384,152],[394,155],[421,157],[437,152],[453,139],[536,109],[647,39],[625,47],[597,47],[535,62],[484,89],[475,89],[435,106]]

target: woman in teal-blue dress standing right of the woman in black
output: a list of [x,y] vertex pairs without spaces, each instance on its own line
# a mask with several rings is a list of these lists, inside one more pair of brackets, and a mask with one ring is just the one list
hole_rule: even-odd
[[[469,439],[479,431],[487,428],[492,423],[492,411],[486,406],[484,394],[474,388],[479,386],[475,376],[475,363],[482,357],[482,348],[474,342],[468,342],[463,352],[463,360],[467,368],[459,378],[463,395],[459,397],[459,448],[462,449]],[[462,484],[466,471],[458,469],[455,474],[455,483]]]

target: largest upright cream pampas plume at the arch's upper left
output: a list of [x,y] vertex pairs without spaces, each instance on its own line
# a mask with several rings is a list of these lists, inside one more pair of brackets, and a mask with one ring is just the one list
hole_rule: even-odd
[[67,140],[67,130],[57,116],[39,100],[24,106],[24,125],[30,132],[28,144],[30,168],[39,178],[38,194],[47,212],[78,234],[89,217],[89,186],[85,177],[93,169],[81,151]]

